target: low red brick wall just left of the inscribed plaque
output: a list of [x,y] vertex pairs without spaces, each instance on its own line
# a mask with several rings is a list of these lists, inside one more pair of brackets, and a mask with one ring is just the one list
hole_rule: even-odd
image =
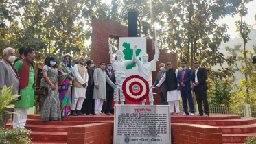
[[114,123],[94,123],[68,128],[68,144],[112,144]]

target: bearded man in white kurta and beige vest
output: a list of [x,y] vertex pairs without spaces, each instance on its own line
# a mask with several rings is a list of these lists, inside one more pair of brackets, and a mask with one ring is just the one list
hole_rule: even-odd
[[85,58],[80,57],[79,63],[73,67],[75,80],[73,82],[71,115],[84,115],[80,112],[84,103],[86,87],[88,82],[88,73],[84,67]]

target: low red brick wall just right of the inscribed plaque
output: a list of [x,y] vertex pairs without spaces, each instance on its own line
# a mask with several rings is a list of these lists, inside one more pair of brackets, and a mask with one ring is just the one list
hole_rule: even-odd
[[219,127],[193,124],[171,124],[172,143],[221,144],[222,130]]

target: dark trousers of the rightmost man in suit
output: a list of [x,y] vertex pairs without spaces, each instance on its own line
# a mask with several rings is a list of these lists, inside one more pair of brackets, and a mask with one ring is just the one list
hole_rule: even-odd
[[203,114],[202,110],[202,102],[204,103],[205,114],[209,115],[209,105],[207,100],[207,92],[205,91],[195,91],[196,93],[196,101],[198,102],[198,110],[199,114]]

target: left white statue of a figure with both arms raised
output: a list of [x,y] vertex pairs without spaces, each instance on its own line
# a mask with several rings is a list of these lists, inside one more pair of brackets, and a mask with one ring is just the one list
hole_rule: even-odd
[[[132,64],[132,62],[135,62],[136,49],[137,49],[137,45],[135,45],[135,49],[133,49],[132,60],[122,60],[121,58],[124,56],[124,53],[121,50],[117,50],[117,60],[115,60],[115,58],[113,57],[112,48],[110,47],[110,43],[109,43],[110,60],[113,66],[113,71],[115,73],[115,80],[118,84],[123,84],[124,80],[126,79],[124,69],[126,69],[128,65]],[[121,104],[124,104],[125,98],[124,98],[123,90],[119,88],[115,88],[114,90],[115,104],[118,104],[118,101],[119,101],[119,91],[120,91]]]

